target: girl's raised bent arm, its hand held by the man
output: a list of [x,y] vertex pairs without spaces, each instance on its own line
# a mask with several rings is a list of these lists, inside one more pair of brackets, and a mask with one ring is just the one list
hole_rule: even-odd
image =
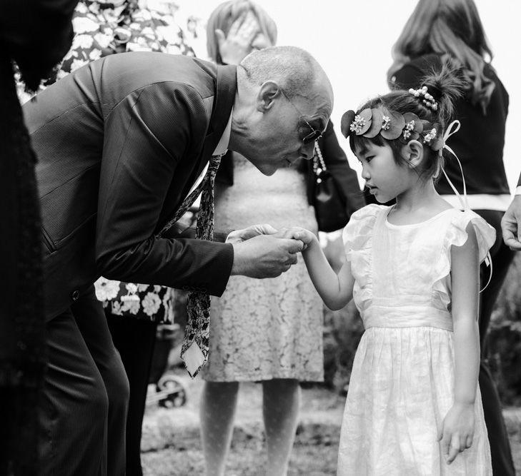
[[337,274],[320,248],[317,236],[301,228],[294,229],[293,238],[302,240],[307,245],[307,248],[302,251],[302,256],[313,285],[324,304],[331,310],[343,308],[353,295],[354,278],[349,263],[344,260]]

